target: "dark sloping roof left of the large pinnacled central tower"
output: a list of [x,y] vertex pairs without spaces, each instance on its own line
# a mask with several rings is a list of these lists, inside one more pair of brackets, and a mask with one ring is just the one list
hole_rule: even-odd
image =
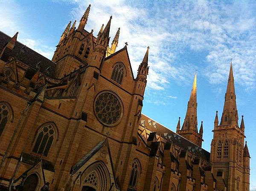
[[[10,41],[11,37],[6,35],[5,33],[0,31],[0,50]],[[48,58],[45,58],[43,55],[35,52],[34,50],[30,49],[29,47],[24,48],[24,44],[20,43],[19,41],[16,42],[14,49],[12,49],[11,56],[16,57],[19,61],[27,64],[28,66],[35,68],[35,65],[38,62],[41,63],[40,72],[44,73],[45,70],[50,67],[49,77],[55,77],[55,70],[56,64],[50,61]],[[20,49],[24,49],[24,51],[20,51]]]

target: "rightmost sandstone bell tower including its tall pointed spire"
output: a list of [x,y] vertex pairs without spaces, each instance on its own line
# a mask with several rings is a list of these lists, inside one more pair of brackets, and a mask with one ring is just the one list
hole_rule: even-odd
[[[213,163],[213,174],[217,177],[217,188],[219,190],[227,188],[227,191],[246,191],[245,187],[248,188],[248,185],[243,182],[248,181],[246,176],[249,173],[244,174],[244,172],[248,169],[250,170],[248,165],[250,156],[247,154],[249,153],[247,145],[244,146],[243,116],[241,126],[239,127],[238,125],[232,62],[230,64],[221,122],[218,124],[218,112],[216,112],[214,130],[212,132],[210,161]],[[247,163],[244,161],[246,157]],[[244,171],[239,169],[244,169]]]

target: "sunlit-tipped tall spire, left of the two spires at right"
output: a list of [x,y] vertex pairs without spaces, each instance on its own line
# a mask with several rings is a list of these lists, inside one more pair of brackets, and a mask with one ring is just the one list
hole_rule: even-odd
[[186,112],[186,117],[182,125],[181,130],[195,130],[198,132],[197,128],[197,87],[196,87],[196,74],[188,102],[188,108]]

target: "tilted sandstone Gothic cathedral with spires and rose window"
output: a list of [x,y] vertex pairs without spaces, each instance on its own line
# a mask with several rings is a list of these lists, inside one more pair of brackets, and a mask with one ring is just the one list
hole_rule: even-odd
[[68,23],[52,60],[20,43],[18,32],[0,32],[0,190],[249,191],[232,63],[208,152],[196,75],[175,133],[142,113],[149,47],[134,76],[127,43],[116,51],[120,28],[110,44],[112,17],[94,35],[89,12],[77,28]]

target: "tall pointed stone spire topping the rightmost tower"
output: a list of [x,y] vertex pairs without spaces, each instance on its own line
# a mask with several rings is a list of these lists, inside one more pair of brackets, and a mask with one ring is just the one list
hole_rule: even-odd
[[225,94],[225,102],[223,113],[221,116],[220,125],[224,124],[236,124],[238,126],[238,116],[236,109],[236,93],[235,93],[235,84],[233,76],[232,62],[230,64],[230,72],[227,81],[227,91]]

